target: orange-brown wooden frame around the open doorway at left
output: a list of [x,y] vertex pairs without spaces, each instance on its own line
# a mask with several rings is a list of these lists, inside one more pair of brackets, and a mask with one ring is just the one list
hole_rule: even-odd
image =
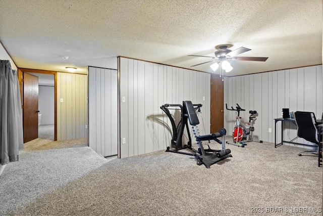
[[28,69],[28,68],[18,68],[18,81],[20,87],[20,96],[21,96],[21,104],[23,104],[24,96],[23,96],[23,74],[27,73],[44,73],[49,75],[54,75],[54,141],[57,141],[57,72],[49,71],[49,70],[37,70],[37,69]]

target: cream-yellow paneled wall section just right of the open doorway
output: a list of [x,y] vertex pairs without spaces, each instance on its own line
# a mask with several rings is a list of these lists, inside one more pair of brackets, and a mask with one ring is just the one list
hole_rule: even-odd
[[57,79],[57,139],[86,138],[87,75],[58,72]]

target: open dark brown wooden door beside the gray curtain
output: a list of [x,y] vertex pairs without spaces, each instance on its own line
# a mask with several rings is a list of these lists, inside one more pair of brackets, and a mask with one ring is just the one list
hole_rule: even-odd
[[24,73],[23,126],[24,143],[38,138],[38,76]]

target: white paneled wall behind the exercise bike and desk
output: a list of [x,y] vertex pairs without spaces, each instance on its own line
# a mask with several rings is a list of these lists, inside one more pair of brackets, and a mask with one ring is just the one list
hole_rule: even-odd
[[[254,135],[267,142],[275,142],[274,118],[282,117],[282,109],[311,111],[316,118],[323,112],[322,65],[271,71],[235,77],[225,77],[225,103],[238,103],[246,111],[241,113],[247,122],[249,110],[258,112]],[[232,133],[235,112],[225,110],[225,128]],[[285,124],[285,123],[284,123]],[[286,123],[285,140],[296,137],[296,125]],[[286,128],[285,127],[285,128]],[[272,128],[272,133],[268,132]],[[277,138],[281,142],[281,122],[277,123]],[[296,142],[307,143],[303,139]]]

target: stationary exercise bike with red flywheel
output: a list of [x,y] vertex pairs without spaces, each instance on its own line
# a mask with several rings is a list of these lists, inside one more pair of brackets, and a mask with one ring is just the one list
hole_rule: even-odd
[[246,111],[245,109],[242,109],[239,106],[239,104],[237,104],[236,109],[234,109],[233,107],[231,107],[231,109],[229,109],[228,104],[226,104],[226,108],[227,108],[227,110],[237,112],[236,123],[235,123],[235,127],[233,129],[233,132],[232,132],[233,143],[227,142],[227,144],[235,145],[238,147],[244,147],[247,145],[246,144],[247,142],[251,142],[251,141],[262,143],[262,140],[252,139],[252,132],[254,132],[254,127],[252,125],[253,125],[253,120],[256,118],[255,114],[257,114],[257,111],[255,111],[255,110],[249,111],[249,114],[250,114],[249,122],[247,122],[249,127],[247,128],[245,125],[240,123],[240,119],[241,119],[240,111]]

